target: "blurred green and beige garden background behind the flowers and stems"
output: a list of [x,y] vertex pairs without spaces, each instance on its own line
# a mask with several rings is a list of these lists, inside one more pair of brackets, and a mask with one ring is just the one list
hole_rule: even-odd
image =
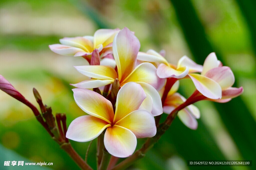
[[[202,64],[214,51],[231,67],[235,86],[243,86],[244,93],[228,103],[196,103],[201,111],[197,130],[176,119],[145,158],[129,169],[216,169],[187,167],[186,160],[198,159],[253,160],[253,167],[218,169],[255,169],[255,8],[253,0],[1,0],[0,74],[35,105],[32,88],[36,87],[54,113],[67,114],[69,125],[84,114],[69,83],[83,80],[73,66],[86,61],[51,52],[48,45],[59,43],[60,38],[128,27],[140,40],[141,51],[165,49],[167,60],[174,64],[183,55]],[[195,89],[190,80],[180,85],[179,92],[186,97]],[[139,139],[137,147],[144,140]],[[84,157],[89,142],[71,143]],[[88,156],[93,168],[95,151],[93,141]],[[0,169],[13,169],[3,166],[4,161],[18,160],[53,163],[24,169],[79,169],[29,108],[0,92]]]

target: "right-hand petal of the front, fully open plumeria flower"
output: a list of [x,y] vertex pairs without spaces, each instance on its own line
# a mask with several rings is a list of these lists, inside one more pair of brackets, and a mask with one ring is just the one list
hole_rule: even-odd
[[156,135],[155,119],[146,110],[135,110],[116,122],[134,133],[136,138],[150,138]]

